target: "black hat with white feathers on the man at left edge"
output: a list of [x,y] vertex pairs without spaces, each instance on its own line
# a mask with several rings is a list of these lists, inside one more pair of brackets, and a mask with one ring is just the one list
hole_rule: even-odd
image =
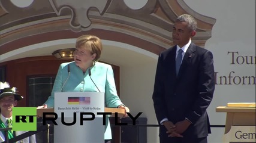
[[22,100],[23,97],[16,93],[17,92],[16,89],[17,88],[15,87],[10,88],[10,85],[7,82],[4,82],[4,83],[0,82],[0,98],[5,97],[7,95],[14,95],[15,100],[17,101]]

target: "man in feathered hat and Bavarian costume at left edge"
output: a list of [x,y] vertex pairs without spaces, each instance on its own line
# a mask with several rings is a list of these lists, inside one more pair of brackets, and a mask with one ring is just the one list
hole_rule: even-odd
[[[16,88],[10,88],[10,85],[5,82],[0,82],[0,128],[12,127],[13,119],[13,107],[17,105],[18,101],[22,100],[22,96],[16,93]],[[8,130],[8,138],[11,139],[13,136],[21,135],[26,131],[15,131]],[[5,141],[4,132],[0,132],[0,142]],[[28,138],[18,141],[19,143],[35,143],[35,135],[29,136]]]

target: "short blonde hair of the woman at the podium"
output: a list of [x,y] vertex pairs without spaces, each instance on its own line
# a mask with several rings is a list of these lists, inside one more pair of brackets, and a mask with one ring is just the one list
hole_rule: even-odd
[[77,38],[76,48],[85,48],[86,50],[91,52],[91,54],[96,54],[94,61],[99,60],[99,58],[101,57],[101,52],[103,50],[101,39],[94,35],[82,35]]

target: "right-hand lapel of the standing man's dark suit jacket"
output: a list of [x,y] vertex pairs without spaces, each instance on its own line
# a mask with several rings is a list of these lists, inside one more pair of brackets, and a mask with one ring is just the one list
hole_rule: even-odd
[[186,67],[188,67],[188,64],[191,63],[192,58],[194,57],[194,52],[195,52],[195,45],[194,43],[191,43],[188,47],[188,49],[185,52],[185,55],[183,57],[182,60],[182,64],[180,65],[180,69],[179,69],[179,74],[177,76],[177,79],[180,79],[180,77],[182,77],[182,73],[186,70]]

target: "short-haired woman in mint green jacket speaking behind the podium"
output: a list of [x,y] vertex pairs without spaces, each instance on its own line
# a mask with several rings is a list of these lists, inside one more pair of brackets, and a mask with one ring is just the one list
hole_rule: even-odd
[[[77,38],[74,61],[62,63],[53,85],[52,94],[43,106],[38,108],[49,108],[54,106],[55,92],[105,92],[105,104],[107,107],[124,108],[129,112],[129,108],[121,102],[116,92],[113,69],[109,64],[98,62],[102,43],[100,38],[92,35],[83,35]],[[69,67],[69,68],[68,68]],[[91,78],[89,77],[91,70]],[[68,77],[70,71],[70,77]],[[65,81],[66,79],[67,82]],[[112,139],[109,119],[106,122],[105,142]]]

